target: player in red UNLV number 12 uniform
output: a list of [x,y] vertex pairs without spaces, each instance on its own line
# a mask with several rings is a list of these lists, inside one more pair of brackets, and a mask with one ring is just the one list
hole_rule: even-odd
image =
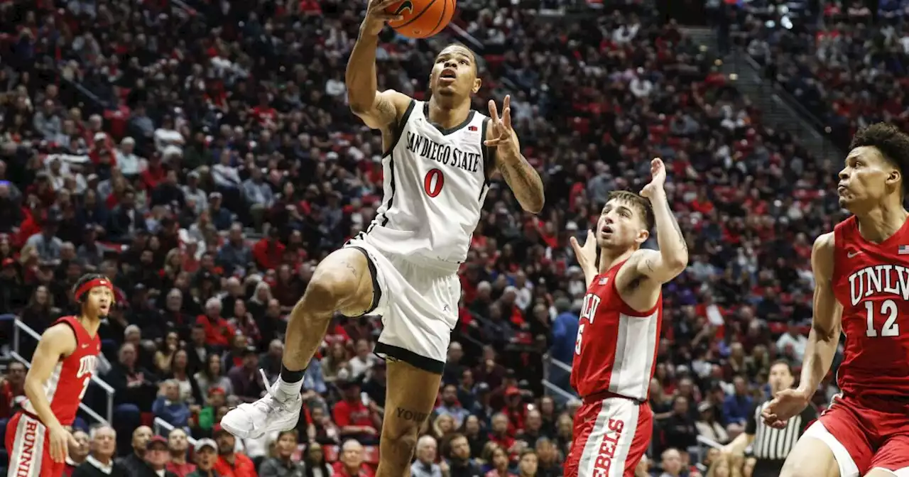
[[776,395],[764,421],[783,427],[804,409],[845,333],[841,393],[795,444],[781,475],[909,474],[906,171],[909,136],[883,123],[855,134],[836,190],[853,215],[814,241],[814,320],[801,380]]

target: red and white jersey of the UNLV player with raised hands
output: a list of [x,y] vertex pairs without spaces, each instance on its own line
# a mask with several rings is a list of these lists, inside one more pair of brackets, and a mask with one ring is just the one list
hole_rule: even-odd
[[619,296],[615,264],[594,277],[584,295],[574,342],[572,387],[582,397],[614,393],[645,401],[656,367],[663,294],[650,310],[634,311]]

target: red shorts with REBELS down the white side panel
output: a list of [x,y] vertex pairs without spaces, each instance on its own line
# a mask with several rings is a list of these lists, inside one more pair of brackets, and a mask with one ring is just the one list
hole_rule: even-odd
[[634,477],[653,433],[654,412],[646,403],[620,397],[585,400],[574,415],[564,477]]

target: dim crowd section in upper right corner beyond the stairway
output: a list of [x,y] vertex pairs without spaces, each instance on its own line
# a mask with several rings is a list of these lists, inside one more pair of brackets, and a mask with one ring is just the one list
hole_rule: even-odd
[[[863,2],[824,2],[792,23],[760,0],[733,8],[735,36],[823,128],[845,147],[855,130],[888,122],[909,125],[909,13],[905,0],[882,0],[875,12]],[[774,8],[767,8],[773,5]],[[783,25],[791,25],[786,28]]]

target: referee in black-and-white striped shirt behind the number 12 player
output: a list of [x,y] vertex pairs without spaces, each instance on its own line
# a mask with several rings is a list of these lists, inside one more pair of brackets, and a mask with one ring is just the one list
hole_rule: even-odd
[[[793,369],[784,361],[774,362],[770,366],[770,391],[776,395],[784,389],[791,388],[795,382]],[[767,402],[759,402],[748,414],[748,422],[744,432],[725,446],[724,451],[733,455],[744,455],[745,449],[750,445],[751,454],[757,460],[754,466],[754,477],[777,477],[783,469],[786,456],[792,451],[795,442],[802,436],[810,422],[817,419],[814,405],[809,404],[804,411],[786,423],[783,429],[774,429],[764,425],[761,412]]]

